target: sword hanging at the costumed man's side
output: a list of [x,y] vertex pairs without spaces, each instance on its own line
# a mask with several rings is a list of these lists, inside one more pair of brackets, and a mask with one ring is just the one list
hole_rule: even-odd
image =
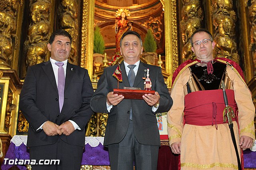
[[225,103],[225,109],[223,111],[223,122],[226,122],[226,117],[228,118],[228,127],[230,129],[230,134],[231,134],[231,138],[232,138],[232,142],[234,144],[234,148],[236,151],[236,158],[237,158],[237,163],[238,163],[238,170],[242,170],[242,166],[241,166],[241,162],[240,162],[240,158],[239,158],[239,154],[238,154],[238,148],[236,146],[236,138],[235,138],[235,134],[234,134],[234,129],[233,129],[233,122],[232,122],[232,117],[234,118],[234,111],[232,109],[232,107],[228,106],[228,97],[225,91],[225,85],[224,85],[224,81],[222,80],[221,82],[221,88],[223,91],[223,98],[224,98],[224,103]]

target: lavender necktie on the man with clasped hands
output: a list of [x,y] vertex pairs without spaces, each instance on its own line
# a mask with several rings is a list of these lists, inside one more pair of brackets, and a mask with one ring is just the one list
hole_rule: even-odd
[[55,63],[58,65],[58,93],[59,93],[59,105],[60,105],[60,112],[62,110],[62,106],[64,103],[64,87],[65,87],[65,74],[64,68],[62,67],[64,63]]

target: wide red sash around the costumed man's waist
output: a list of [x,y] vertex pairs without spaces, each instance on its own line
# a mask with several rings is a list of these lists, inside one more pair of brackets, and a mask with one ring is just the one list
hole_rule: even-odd
[[[228,105],[232,107],[236,115],[238,108],[234,99],[234,91],[227,89],[226,93]],[[184,123],[198,126],[224,124],[224,108],[222,90],[205,90],[189,93],[185,96]],[[236,121],[236,118],[232,118],[232,121]]]

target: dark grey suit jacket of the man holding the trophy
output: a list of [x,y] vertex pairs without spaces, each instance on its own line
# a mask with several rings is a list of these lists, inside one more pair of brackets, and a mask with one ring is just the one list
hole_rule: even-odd
[[[94,112],[108,113],[106,107],[106,96],[113,89],[117,89],[117,79],[112,76],[116,70],[116,65],[104,69],[104,73],[98,81],[98,88],[91,99],[91,108]],[[119,89],[130,87],[124,63],[120,65],[122,70],[123,82],[119,83]],[[144,80],[146,69],[150,69],[150,80],[152,81],[152,90],[160,94],[160,105],[155,113],[167,112],[172,106],[172,99],[168,93],[161,68],[154,65],[148,65],[140,61],[138,72],[133,87],[144,89]],[[135,136],[140,144],[159,145],[160,135],[156,121],[156,115],[152,113],[152,106],[149,106],[144,100],[124,99],[118,105],[113,106],[108,113],[108,122],[105,132],[104,145],[119,143],[124,138],[129,124],[130,109],[132,107],[132,123]]]

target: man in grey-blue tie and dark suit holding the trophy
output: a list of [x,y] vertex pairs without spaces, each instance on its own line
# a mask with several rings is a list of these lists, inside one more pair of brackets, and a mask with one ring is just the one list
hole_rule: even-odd
[[[124,62],[122,70],[123,87],[144,89],[145,70],[149,68],[154,95],[143,95],[144,100],[124,99],[113,94],[117,80],[112,74],[116,66],[107,67],[98,81],[91,99],[91,108],[98,113],[108,113],[104,145],[108,146],[112,170],[133,170],[133,162],[138,170],[156,170],[160,135],[155,113],[167,112],[172,106],[161,68],[140,61],[142,41],[137,32],[128,31],[120,41],[120,52]],[[133,76],[131,76],[133,75]],[[132,77],[135,80],[132,82]]]

